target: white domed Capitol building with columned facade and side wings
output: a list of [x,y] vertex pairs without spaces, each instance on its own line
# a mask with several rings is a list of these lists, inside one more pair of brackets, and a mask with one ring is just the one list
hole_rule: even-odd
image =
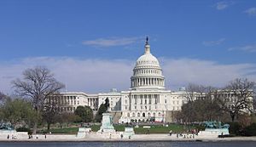
[[150,52],[148,37],[145,52],[140,56],[131,76],[131,88],[108,93],[61,93],[61,110],[70,111],[79,105],[97,110],[109,99],[109,111],[114,122],[173,122],[173,112],[181,110],[186,99],[184,89],[172,92],[165,88],[165,76],[158,59]]

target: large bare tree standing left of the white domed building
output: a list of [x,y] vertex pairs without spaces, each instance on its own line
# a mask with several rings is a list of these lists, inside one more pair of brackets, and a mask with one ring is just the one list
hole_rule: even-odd
[[[58,93],[64,85],[55,80],[54,75],[45,67],[37,66],[23,72],[23,80],[12,82],[15,92],[22,97],[32,99],[33,108],[38,116],[44,110],[45,100],[51,94]],[[34,122],[33,133],[38,128],[38,120]]]

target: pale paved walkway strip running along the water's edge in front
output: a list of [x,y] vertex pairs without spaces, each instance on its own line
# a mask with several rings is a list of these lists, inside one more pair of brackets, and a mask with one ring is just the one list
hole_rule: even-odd
[[[38,139],[37,139],[38,138]],[[209,138],[209,137],[200,137],[196,136],[193,139],[193,136],[187,138],[179,137],[177,134],[172,134],[170,136],[166,133],[161,134],[135,134],[129,138],[120,139],[118,134],[106,135],[99,133],[90,133],[86,135],[85,138],[78,138],[76,135],[67,135],[67,134],[48,134],[45,136],[42,134],[34,135],[33,139],[28,139],[28,137],[22,137],[16,139],[7,139],[3,138],[3,135],[0,137],[0,141],[256,141],[256,137],[234,137],[234,138]]]

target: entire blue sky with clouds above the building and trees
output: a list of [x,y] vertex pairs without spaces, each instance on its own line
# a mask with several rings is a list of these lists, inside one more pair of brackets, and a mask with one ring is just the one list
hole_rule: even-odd
[[127,90],[147,36],[166,89],[256,81],[253,0],[2,0],[0,91],[38,65],[65,91]]

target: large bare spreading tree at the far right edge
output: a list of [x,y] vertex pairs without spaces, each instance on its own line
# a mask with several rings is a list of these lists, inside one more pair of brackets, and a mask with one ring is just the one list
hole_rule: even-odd
[[230,113],[232,122],[239,113],[253,111],[254,85],[255,82],[249,82],[247,78],[237,78],[215,94],[221,108]]

